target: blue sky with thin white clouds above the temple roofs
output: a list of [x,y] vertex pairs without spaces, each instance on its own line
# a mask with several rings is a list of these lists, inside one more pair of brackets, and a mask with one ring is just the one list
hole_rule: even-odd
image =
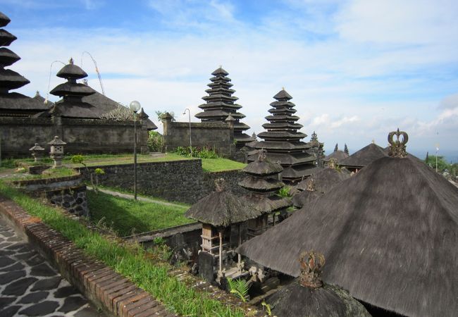
[[[0,0],[22,57],[12,69],[48,91],[52,61],[70,56],[99,89],[154,117],[199,112],[211,72],[230,73],[249,133],[262,132],[272,97],[285,87],[302,132],[356,151],[388,132],[409,133],[414,153],[458,156],[456,0]],[[51,89],[61,82],[51,69]],[[100,90],[100,89],[99,89]],[[52,100],[54,97],[51,97]],[[197,121],[196,118],[193,120]],[[159,123],[158,123],[159,125]],[[160,125],[159,125],[160,126]],[[307,140],[309,137],[307,137]]]

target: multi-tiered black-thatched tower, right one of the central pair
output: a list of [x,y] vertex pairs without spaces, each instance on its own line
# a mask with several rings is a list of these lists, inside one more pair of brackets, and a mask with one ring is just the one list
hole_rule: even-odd
[[[280,162],[283,180],[297,182],[309,175],[307,170],[315,167],[316,158],[307,152],[311,145],[301,142],[307,135],[297,131],[302,125],[297,123],[299,117],[294,116],[295,104],[290,101],[290,94],[282,89],[273,98],[276,101],[271,103],[273,108],[268,111],[271,116],[267,116],[268,123],[262,125],[267,131],[258,135],[264,141],[256,142],[254,147],[265,149],[269,161]],[[256,159],[257,154],[249,157],[249,161]]]

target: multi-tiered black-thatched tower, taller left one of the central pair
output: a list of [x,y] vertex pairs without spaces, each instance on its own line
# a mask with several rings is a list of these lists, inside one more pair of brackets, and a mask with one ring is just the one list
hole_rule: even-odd
[[237,149],[241,149],[247,142],[252,142],[256,138],[244,133],[249,129],[249,126],[240,122],[240,119],[245,118],[245,115],[237,112],[242,106],[235,104],[238,98],[233,96],[235,90],[230,88],[233,87],[233,84],[230,83],[230,78],[227,77],[229,73],[220,67],[211,75],[213,77],[210,78],[211,83],[208,85],[210,88],[205,90],[209,96],[202,97],[206,104],[199,106],[204,111],[197,113],[195,117],[202,120],[202,122],[225,122],[228,116],[231,115],[235,120],[234,140],[237,142]]

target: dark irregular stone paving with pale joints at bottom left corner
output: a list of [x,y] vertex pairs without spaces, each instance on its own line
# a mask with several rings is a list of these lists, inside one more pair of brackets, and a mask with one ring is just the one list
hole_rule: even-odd
[[104,315],[0,218],[0,316]]

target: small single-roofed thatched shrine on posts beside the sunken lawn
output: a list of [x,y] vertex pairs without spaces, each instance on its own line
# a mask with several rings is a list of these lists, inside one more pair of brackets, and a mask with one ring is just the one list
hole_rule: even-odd
[[[224,180],[217,180],[216,192],[212,192],[197,201],[185,213],[186,217],[202,223],[201,253],[207,254],[205,259],[210,259],[211,263],[218,260],[218,278],[223,276],[223,252],[228,254],[242,243],[240,224],[262,215],[259,209],[254,209],[252,205],[247,204],[247,201],[226,192],[224,187]],[[238,231],[238,239],[235,243],[230,241],[233,225],[237,225]],[[199,271],[200,259],[199,256]],[[238,256],[237,271],[239,272],[241,271],[240,265],[240,256]],[[203,275],[208,280],[213,281],[213,264],[209,266],[211,273],[204,273]]]

